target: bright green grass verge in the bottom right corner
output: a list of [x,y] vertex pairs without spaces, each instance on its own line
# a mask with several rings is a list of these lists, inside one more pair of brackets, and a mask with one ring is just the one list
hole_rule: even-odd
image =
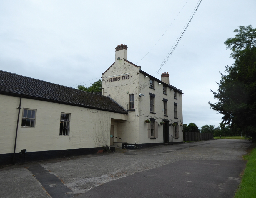
[[248,159],[248,162],[234,198],[256,197],[256,148],[251,151],[250,155],[243,157],[245,160]]

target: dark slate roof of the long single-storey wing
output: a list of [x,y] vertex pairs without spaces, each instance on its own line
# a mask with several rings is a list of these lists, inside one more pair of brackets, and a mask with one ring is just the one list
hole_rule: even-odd
[[2,70],[0,94],[127,114],[125,109],[109,97]]

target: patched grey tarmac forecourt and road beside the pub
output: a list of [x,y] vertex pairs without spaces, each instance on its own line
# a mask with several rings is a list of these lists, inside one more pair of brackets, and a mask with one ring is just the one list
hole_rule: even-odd
[[233,197],[247,140],[216,139],[0,169],[0,197]]

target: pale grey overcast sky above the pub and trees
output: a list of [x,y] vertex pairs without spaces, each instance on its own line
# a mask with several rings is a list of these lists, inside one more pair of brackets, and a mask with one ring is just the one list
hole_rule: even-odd
[[[1,0],[0,69],[76,87],[100,79],[115,61],[115,47],[123,43],[128,46],[127,59],[154,75],[197,3]],[[222,115],[209,108],[208,101],[215,101],[209,89],[217,90],[219,71],[233,63],[224,41],[235,35],[239,25],[256,28],[255,9],[255,0],[202,0],[181,42],[156,76],[161,79],[162,72],[169,72],[170,84],[184,92],[184,123],[200,128],[221,122]],[[137,63],[178,13],[157,45]]]

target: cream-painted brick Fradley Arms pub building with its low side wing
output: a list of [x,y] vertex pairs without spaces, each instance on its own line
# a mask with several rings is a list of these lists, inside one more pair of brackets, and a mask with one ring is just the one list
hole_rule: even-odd
[[122,44],[101,95],[0,70],[0,165],[183,143],[183,93],[169,78],[129,62]]

